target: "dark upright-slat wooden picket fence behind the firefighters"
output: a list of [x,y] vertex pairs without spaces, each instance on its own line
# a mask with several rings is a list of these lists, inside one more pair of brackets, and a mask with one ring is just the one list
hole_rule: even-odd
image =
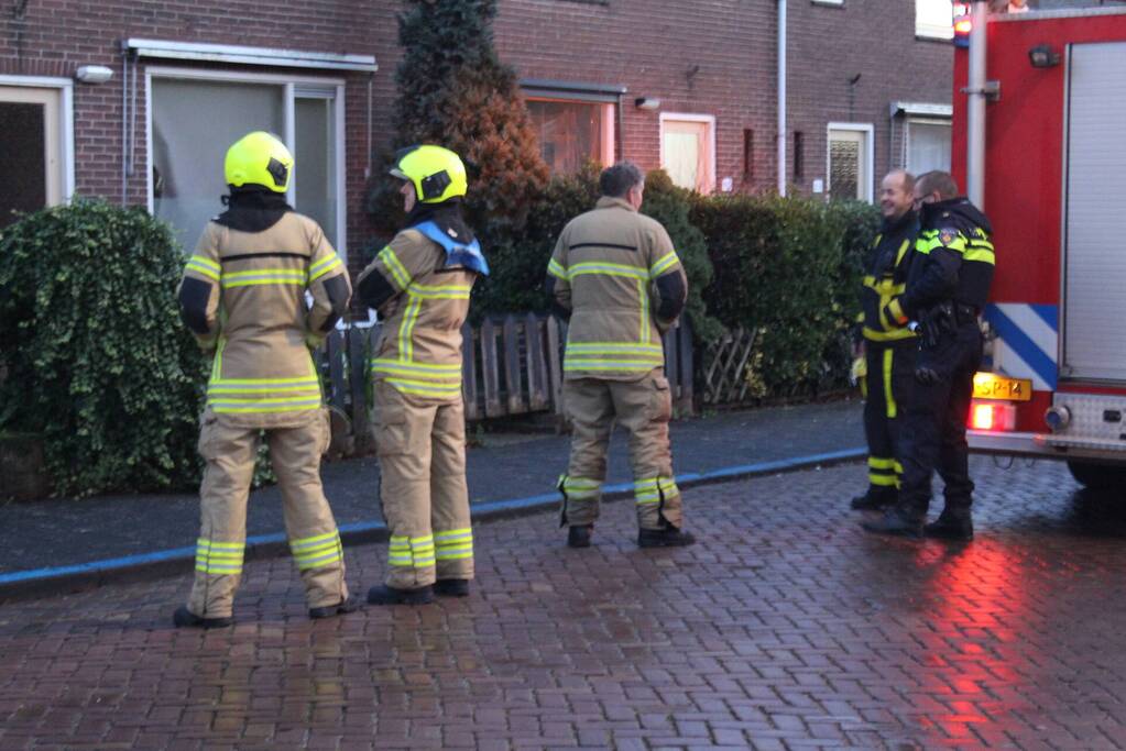
[[[368,367],[379,336],[372,327],[337,329],[318,350],[316,359],[334,415],[333,434],[368,438]],[[462,329],[465,417],[476,422],[535,413],[563,413],[563,350],[566,324],[554,316],[506,316]],[[695,359],[687,320],[663,340],[665,376],[678,414],[692,413]]]

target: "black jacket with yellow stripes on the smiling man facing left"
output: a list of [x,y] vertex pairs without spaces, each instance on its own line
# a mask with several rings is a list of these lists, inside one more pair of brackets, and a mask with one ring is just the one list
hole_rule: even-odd
[[903,295],[910,269],[912,245],[919,233],[919,217],[908,211],[897,219],[884,221],[872,244],[860,289],[861,333],[877,344],[909,343],[914,334],[888,317],[887,305]]

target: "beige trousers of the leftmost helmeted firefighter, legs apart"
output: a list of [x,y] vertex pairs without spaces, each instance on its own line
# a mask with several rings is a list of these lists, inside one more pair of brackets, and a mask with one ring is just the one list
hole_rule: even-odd
[[[188,609],[206,618],[231,615],[242,576],[247,498],[261,428],[239,422],[207,410],[199,432],[199,453],[207,467],[199,488],[202,524]],[[282,489],[289,549],[311,608],[336,605],[348,597],[340,533],[321,488],[321,454],[329,440],[324,409],[310,410],[304,424],[266,429]]]

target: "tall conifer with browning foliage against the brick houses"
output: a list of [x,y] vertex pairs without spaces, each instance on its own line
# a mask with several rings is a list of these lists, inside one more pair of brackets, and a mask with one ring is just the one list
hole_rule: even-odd
[[[408,0],[399,16],[403,60],[394,148],[430,143],[457,152],[468,170],[467,218],[519,227],[547,181],[547,166],[516,72],[493,46],[497,0]],[[374,212],[399,201],[375,175]],[[376,220],[379,223],[381,217]],[[385,223],[379,223],[385,224]]]

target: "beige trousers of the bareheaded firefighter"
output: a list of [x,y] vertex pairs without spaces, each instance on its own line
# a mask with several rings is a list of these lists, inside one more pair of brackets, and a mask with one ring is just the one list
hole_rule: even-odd
[[672,397],[654,370],[637,381],[575,378],[563,381],[563,405],[572,424],[571,461],[558,481],[563,525],[593,524],[606,480],[606,451],[617,422],[629,433],[637,525],[681,526],[680,490],[669,450]]

